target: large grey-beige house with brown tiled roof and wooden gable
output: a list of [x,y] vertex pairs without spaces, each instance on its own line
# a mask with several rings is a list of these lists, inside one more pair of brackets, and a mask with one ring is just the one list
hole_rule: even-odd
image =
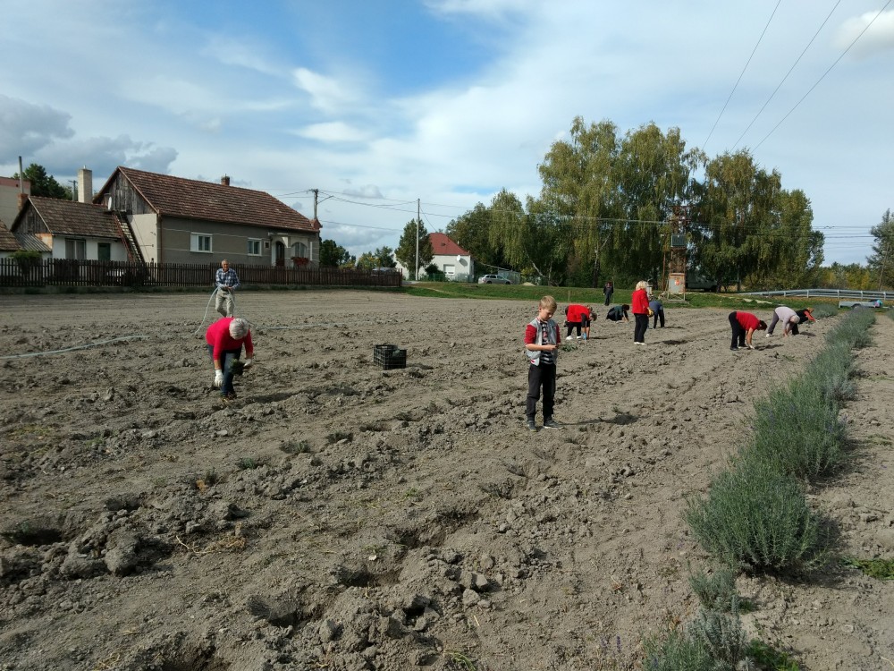
[[143,259],[157,263],[319,263],[319,221],[264,191],[231,186],[228,176],[210,183],[119,166],[94,202],[131,230]]

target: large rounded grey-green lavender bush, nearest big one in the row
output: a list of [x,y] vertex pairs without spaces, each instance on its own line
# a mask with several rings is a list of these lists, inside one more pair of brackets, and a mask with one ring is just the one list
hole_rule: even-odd
[[828,561],[830,539],[797,481],[760,459],[742,458],[690,497],[684,518],[722,563],[755,572],[804,573]]

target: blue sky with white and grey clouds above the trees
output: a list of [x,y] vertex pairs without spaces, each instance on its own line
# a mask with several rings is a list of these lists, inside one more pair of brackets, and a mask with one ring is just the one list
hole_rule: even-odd
[[359,256],[537,196],[574,118],[747,149],[824,264],[894,208],[894,0],[0,0],[0,175],[266,191]]

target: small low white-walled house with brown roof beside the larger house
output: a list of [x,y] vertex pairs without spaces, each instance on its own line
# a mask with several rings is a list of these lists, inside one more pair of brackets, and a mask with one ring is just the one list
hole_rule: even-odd
[[29,196],[13,221],[20,249],[53,259],[126,261],[139,253],[122,223],[100,205]]

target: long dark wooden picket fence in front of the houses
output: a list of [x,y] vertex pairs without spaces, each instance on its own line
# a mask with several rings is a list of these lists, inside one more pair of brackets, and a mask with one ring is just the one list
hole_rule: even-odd
[[[166,286],[215,285],[216,264],[139,263],[131,261],[80,261],[0,259],[0,286]],[[242,285],[286,286],[401,286],[397,271],[355,268],[235,268]]]

